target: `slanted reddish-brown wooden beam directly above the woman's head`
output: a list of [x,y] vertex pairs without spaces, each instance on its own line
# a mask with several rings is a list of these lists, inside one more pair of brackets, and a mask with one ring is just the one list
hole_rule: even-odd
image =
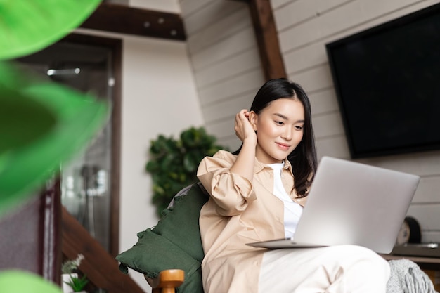
[[250,14],[266,79],[287,77],[269,0],[250,0]]

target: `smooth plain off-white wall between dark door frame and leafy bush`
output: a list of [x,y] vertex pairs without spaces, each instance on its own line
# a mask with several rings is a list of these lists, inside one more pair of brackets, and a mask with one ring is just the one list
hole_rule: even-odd
[[[157,223],[151,179],[145,172],[150,140],[178,135],[203,124],[186,43],[77,30],[122,39],[122,145],[119,250],[132,247],[136,234]],[[143,275],[130,275],[145,292]]]

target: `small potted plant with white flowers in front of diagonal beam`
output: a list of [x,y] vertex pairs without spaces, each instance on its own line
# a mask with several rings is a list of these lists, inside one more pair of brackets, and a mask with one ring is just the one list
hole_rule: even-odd
[[76,259],[67,260],[61,266],[61,273],[63,279],[63,292],[85,292],[84,287],[89,283],[86,275],[78,276],[78,268],[84,255],[78,254]]

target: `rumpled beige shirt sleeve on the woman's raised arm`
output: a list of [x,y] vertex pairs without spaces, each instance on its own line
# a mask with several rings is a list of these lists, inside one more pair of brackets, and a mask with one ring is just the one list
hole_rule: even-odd
[[235,216],[245,211],[249,202],[256,199],[252,183],[247,178],[231,173],[235,155],[220,150],[200,162],[197,176],[216,203],[221,216]]

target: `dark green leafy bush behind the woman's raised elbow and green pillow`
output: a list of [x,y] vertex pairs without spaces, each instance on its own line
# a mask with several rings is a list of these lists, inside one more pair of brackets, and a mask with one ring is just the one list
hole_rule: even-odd
[[197,181],[197,168],[206,156],[227,148],[216,145],[216,138],[203,127],[186,129],[180,138],[159,135],[151,141],[146,170],[153,177],[153,204],[160,216],[174,195]]

